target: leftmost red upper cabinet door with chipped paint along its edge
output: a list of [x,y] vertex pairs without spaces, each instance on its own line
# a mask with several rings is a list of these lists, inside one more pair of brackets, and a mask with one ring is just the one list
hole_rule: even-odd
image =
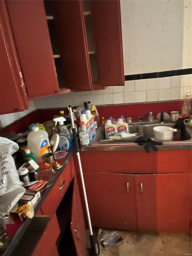
[[19,70],[13,35],[4,1],[0,1],[0,115],[28,108],[25,87]]

